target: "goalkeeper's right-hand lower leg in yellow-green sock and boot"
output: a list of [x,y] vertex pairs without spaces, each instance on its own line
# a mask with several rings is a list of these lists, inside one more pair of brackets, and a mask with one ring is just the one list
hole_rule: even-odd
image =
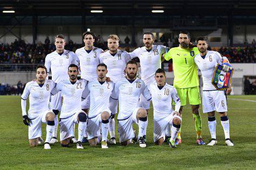
[[197,134],[197,141],[198,145],[205,145],[205,142],[202,139],[202,121],[201,115],[199,113],[199,105],[191,105],[192,113],[193,113],[193,120],[195,122],[196,134]]

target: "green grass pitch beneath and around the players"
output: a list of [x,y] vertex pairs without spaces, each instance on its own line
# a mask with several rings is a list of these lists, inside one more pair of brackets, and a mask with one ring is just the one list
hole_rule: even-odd
[[[190,106],[185,106],[182,117],[182,144],[171,149],[167,144],[156,146],[153,143],[153,109],[149,111],[147,130],[148,145],[140,148],[137,144],[127,147],[119,143],[107,150],[100,145],[77,150],[54,144],[51,150],[43,146],[31,148],[27,139],[27,127],[22,122],[20,98],[0,97],[0,168],[1,169],[254,169],[256,160],[256,95],[229,96],[228,115],[233,147],[225,146],[224,132],[217,119],[216,146],[197,146],[196,133]],[[202,113],[202,106],[200,106]],[[203,138],[210,139],[207,115],[202,114]],[[117,121],[116,121],[117,122]],[[135,126],[136,127],[136,126]],[[117,128],[117,126],[116,126]],[[137,129],[137,127],[136,127]],[[59,131],[58,131],[59,132]],[[77,133],[77,129],[75,130]],[[117,130],[116,130],[117,134]],[[58,135],[59,136],[59,135]],[[117,141],[118,141],[118,135]],[[45,139],[45,125],[43,125]]]

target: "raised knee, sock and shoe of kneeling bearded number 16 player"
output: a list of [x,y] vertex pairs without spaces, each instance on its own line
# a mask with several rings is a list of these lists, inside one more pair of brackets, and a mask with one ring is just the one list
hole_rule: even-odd
[[139,135],[138,135],[138,142],[140,147],[146,147],[146,143],[143,139],[144,131],[147,129],[147,120],[148,120],[148,115],[147,115],[147,110],[140,108],[137,111],[137,121],[139,122]]

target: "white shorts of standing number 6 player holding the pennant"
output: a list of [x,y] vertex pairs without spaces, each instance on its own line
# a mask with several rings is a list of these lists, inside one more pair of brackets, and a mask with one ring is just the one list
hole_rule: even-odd
[[212,111],[227,112],[227,100],[224,91],[203,91],[203,113]]

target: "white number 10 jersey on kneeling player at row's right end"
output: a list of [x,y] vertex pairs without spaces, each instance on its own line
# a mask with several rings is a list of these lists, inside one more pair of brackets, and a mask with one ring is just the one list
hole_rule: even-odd
[[175,111],[179,112],[181,101],[174,86],[167,83],[160,90],[156,83],[148,85],[148,90],[152,95],[152,103],[154,108],[154,117],[163,117],[172,114],[171,102],[175,102]]

